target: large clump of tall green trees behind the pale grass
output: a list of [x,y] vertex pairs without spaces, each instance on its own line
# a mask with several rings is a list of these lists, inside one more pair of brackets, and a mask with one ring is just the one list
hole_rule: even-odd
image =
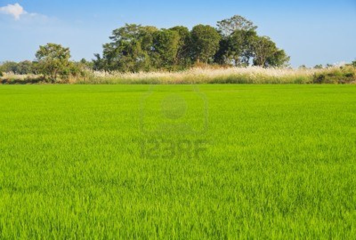
[[126,24],[112,31],[103,54],[94,54],[93,68],[105,71],[180,70],[197,63],[280,67],[289,62],[271,38],[258,36],[257,26],[235,15],[217,23],[158,29]]

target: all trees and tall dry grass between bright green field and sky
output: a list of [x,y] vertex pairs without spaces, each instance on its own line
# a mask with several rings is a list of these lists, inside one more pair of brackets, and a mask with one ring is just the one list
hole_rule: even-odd
[[[219,21],[216,27],[197,25],[192,30],[126,24],[112,31],[103,53],[94,54],[91,61],[71,61],[69,48],[48,43],[40,46],[34,61],[2,63],[0,78],[7,84],[355,82],[356,61],[325,68],[318,64],[313,73],[304,65],[291,71],[284,50],[269,37],[258,36],[256,29],[239,15]],[[256,71],[251,66],[272,70]]]

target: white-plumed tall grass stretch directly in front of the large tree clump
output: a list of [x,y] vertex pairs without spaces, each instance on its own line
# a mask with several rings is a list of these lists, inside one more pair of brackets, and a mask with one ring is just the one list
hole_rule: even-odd
[[[89,81],[97,84],[184,84],[184,83],[310,83],[318,69],[193,68],[177,72],[120,73],[95,71]],[[80,83],[85,83],[80,81]]]

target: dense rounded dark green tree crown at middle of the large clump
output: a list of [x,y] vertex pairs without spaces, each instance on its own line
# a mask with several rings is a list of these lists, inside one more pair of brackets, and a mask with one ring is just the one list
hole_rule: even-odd
[[191,35],[194,59],[208,63],[219,49],[220,34],[209,25],[197,25],[193,27]]

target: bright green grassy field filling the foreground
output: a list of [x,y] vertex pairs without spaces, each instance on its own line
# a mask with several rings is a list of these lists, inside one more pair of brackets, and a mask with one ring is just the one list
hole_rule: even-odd
[[0,239],[356,238],[355,85],[2,85],[0,107]]

